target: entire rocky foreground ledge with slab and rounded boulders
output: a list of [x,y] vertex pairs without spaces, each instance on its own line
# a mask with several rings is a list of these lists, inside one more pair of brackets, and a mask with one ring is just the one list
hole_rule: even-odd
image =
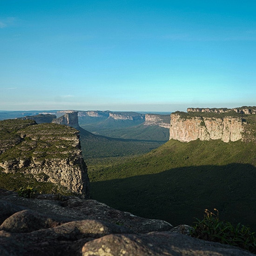
[[0,189],[1,256],[253,255],[192,238],[189,226],[173,228],[95,200],[54,197],[27,199]]

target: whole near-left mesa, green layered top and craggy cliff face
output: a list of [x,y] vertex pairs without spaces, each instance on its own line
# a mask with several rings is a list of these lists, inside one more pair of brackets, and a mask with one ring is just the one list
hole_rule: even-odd
[[79,131],[32,120],[0,121],[0,170],[22,173],[89,196],[87,167],[81,154]]

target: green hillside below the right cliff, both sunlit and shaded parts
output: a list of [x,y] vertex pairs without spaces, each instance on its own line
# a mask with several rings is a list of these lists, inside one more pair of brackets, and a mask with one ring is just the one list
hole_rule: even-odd
[[145,155],[89,168],[91,196],[173,225],[191,225],[203,209],[216,207],[230,222],[256,230],[255,149],[252,142],[171,140]]

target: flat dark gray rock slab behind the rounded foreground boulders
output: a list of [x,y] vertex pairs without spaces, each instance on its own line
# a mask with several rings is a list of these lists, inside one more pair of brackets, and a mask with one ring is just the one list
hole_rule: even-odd
[[[163,220],[154,220],[141,218],[134,216],[131,213],[119,211],[111,208],[108,205],[95,201],[95,200],[82,200],[77,197],[63,197],[59,198],[65,201],[53,200],[54,196],[40,195],[39,198],[43,199],[28,199],[19,197],[16,193],[5,195],[0,191],[0,200],[5,200],[9,203],[22,206],[17,208],[17,211],[24,209],[31,209],[37,213],[45,216],[50,216],[55,222],[68,222],[76,220],[100,220],[121,226],[126,226],[133,230],[135,233],[148,233],[152,231],[168,231],[173,226]],[[22,215],[23,216],[22,216]],[[31,212],[20,212],[19,216],[25,218],[25,215],[31,214]],[[14,215],[14,217],[16,217]]]

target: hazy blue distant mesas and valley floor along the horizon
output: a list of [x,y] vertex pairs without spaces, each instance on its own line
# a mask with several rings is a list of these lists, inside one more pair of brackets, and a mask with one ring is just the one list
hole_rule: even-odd
[[[113,112],[113,111],[0,111],[0,120],[23,118],[33,119],[37,123],[55,122],[67,124],[61,118],[65,114],[77,112],[78,120],[70,126],[81,127],[95,134],[121,139],[146,141],[168,141],[170,113]],[[73,117],[72,117],[73,118]],[[76,123],[78,121],[78,123]],[[75,122],[75,124],[73,123]]]

